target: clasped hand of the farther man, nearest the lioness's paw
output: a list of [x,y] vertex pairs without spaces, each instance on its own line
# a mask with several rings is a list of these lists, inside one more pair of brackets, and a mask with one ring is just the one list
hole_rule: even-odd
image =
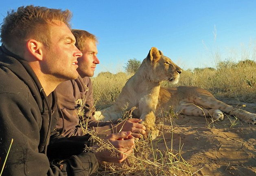
[[128,118],[122,122],[114,125],[116,131],[131,131],[131,135],[136,138],[141,138],[142,135],[146,134],[146,127],[140,124],[142,120],[138,118]]

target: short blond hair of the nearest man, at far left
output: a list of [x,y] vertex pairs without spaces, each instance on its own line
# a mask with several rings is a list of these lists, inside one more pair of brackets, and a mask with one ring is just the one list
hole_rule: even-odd
[[17,11],[7,12],[1,26],[2,44],[18,56],[23,56],[26,41],[35,39],[51,45],[50,24],[62,21],[70,28],[72,13],[69,10],[49,9],[40,6],[21,6]]

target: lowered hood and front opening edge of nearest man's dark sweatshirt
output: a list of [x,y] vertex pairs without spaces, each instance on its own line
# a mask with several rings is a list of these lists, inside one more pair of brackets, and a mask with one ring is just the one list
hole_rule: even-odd
[[51,114],[52,109],[57,107],[55,93],[50,94],[47,98],[44,88],[42,87],[35,72],[24,59],[9,52],[3,45],[0,47],[0,67],[6,67],[11,70],[20,80],[28,86],[33,95],[40,113],[42,115],[42,126],[40,127],[40,144],[39,152],[46,153],[46,146],[49,142]]

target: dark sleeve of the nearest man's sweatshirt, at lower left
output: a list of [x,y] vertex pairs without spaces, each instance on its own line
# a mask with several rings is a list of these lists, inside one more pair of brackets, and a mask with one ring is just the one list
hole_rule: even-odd
[[[62,163],[50,163],[44,151],[39,152],[42,116],[30,92],[0,93],[0,158],[5,159],[11,139],[13,144],[3,170],[4,176],[80,176],[98,168],[93,153],[72,155]],[[2,168],[2,162],[1,168]]]

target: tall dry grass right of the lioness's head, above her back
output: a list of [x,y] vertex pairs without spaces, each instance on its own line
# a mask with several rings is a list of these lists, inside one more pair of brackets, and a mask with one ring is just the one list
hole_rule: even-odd
[[204,68],[183,71],[176,85],[163,82],[162,86],[197,86],[209,90],[215,97],[256,101],[256,62],[219,62],[216,69]]

